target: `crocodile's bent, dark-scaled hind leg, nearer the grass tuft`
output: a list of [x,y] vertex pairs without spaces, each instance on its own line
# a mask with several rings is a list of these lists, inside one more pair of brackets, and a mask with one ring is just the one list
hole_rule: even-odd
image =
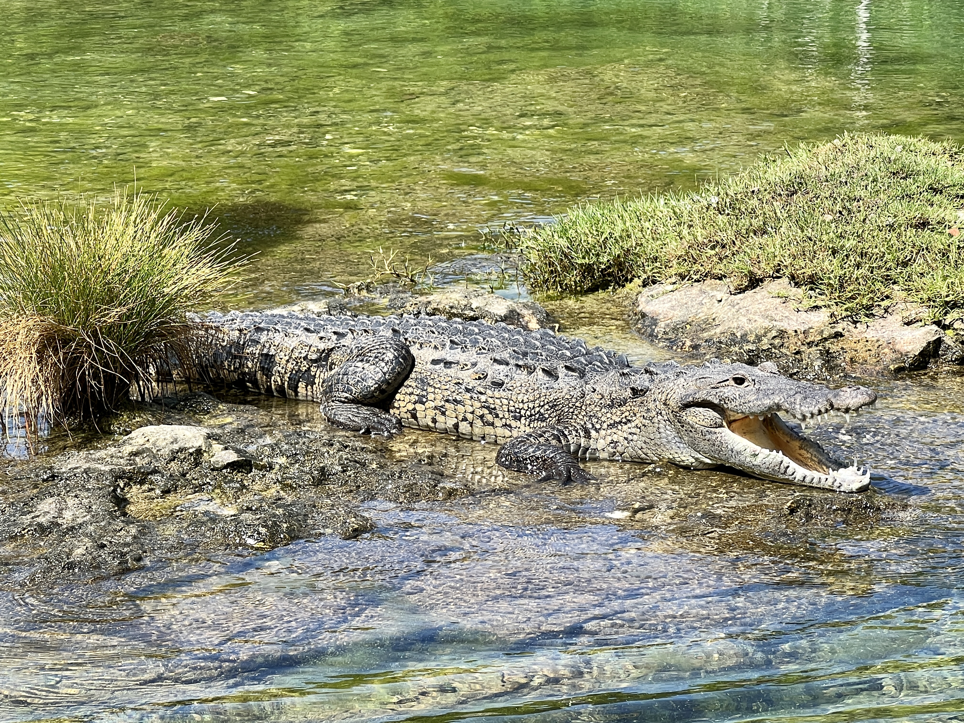
[[415,364],[412,350],[392,336],[370,336],[338,349],[329,359],[321,414],[338,427],[362,434],[392,435],[402,422],[377,405],[406,380]]

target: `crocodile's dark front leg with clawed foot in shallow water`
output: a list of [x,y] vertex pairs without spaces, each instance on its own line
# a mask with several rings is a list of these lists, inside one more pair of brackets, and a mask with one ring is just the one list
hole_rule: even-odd
[[570,425],[544,427],[505,442],[495,462],[506,469],[539,474],[539,482],[589,482],[596,477],[580,468],[576,458],[566,451],[581,439],[582,434]]

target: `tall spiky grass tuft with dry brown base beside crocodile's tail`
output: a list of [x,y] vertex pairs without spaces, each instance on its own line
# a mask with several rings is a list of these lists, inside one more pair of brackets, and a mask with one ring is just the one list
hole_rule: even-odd
[[[0,388],[36,425],[117,409],[148,366],[190,363],[189,312],[244,259],[203,218],[141,193],[0,212]],[[36,427],[35,427],[36,428]]]

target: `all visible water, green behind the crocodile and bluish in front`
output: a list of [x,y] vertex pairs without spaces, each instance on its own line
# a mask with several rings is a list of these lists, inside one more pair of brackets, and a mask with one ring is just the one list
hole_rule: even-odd
[[[455,280],[452,261],[486,259],[480,225],[688,186],[798,140],[964,141],[953,0],[2,11],[3,200],[104,193],[136,168],[174,203],[217,203],[260,251],[254,307],[333,293],[379,245]],[[881,391],[877,415],[818,434],[910,500],[905,522],[795,545],[630,528],[606,517],[619,495],[658,513],[789,493],[609,466],[598,488],[546,493],[571,511],[557,521],[530,515],[532,489],[376,505],[357,541],[54,591],[2,581],[0,719],[962,720],[964,386]]]

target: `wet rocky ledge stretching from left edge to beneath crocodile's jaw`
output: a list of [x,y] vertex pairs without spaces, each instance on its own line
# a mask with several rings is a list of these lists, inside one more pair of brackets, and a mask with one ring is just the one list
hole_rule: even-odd
[[[836,495],[667,465],[594,463],[597,483],[537,484],[497,468],[495,445],[416,431],[362,437],[312,418],[315,405],[277,400],[293,407],[285,419],[201,392],[158,401],[113,419],[115,435],[99,448],[0,472],[0,582],[45,588],[198,555],[378,535],[371,510],[385,505],[483,525],[616,524],[726,553],[917,514],[874,491]],[[125,425],[135,429],[120,437]]]

